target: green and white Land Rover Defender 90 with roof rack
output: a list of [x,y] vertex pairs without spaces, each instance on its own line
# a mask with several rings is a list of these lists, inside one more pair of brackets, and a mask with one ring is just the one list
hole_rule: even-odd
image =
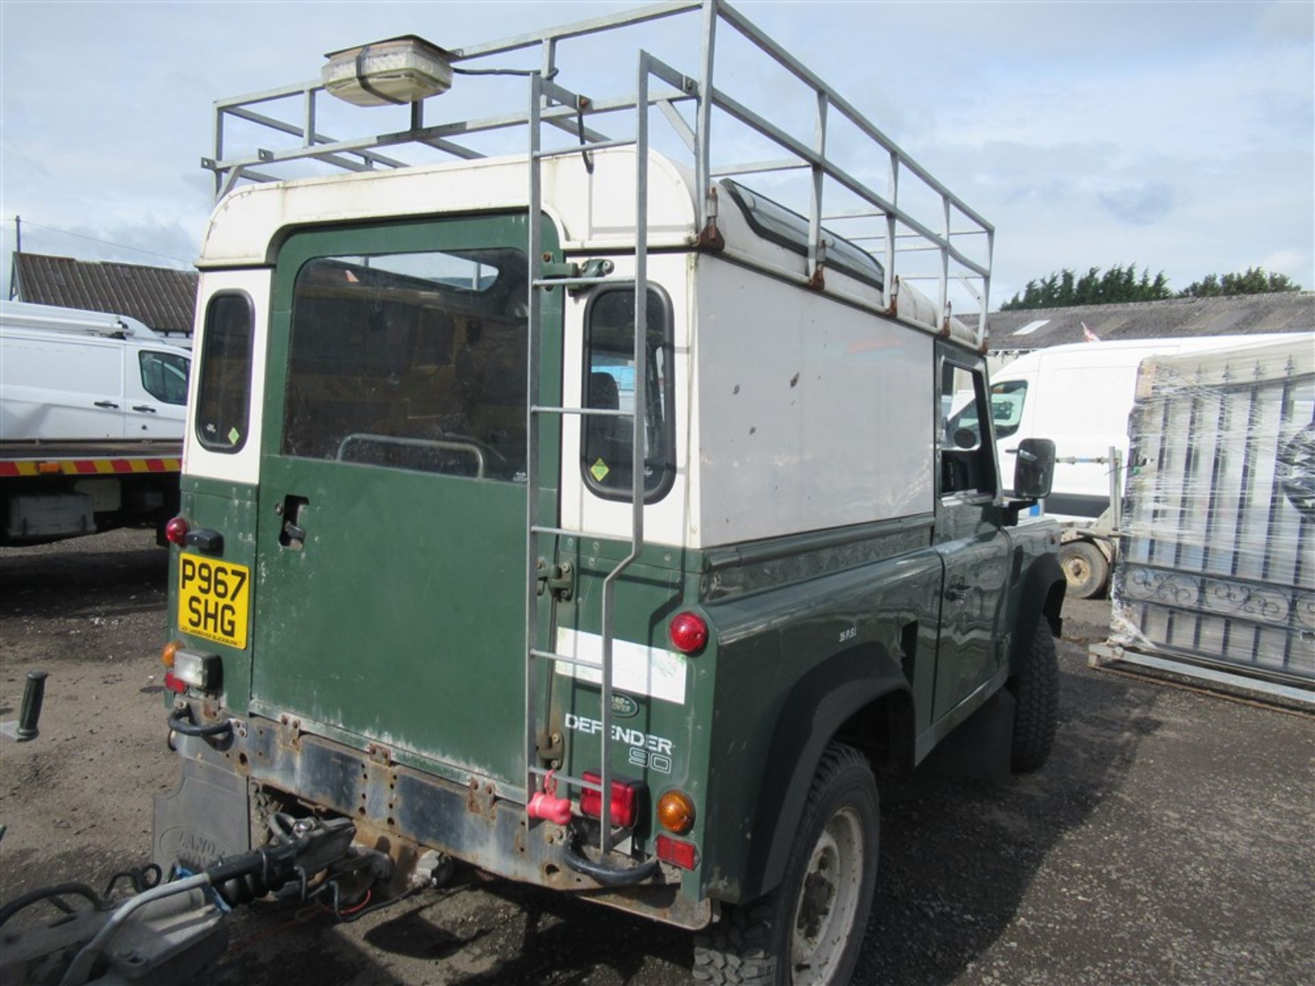
[[[631,95],[567,88],[575,38],[686,12],[693,75],[638,51]],[[714,84],[726,33],[814,134]],[[443,117],[476,68],[515,106]],[[1059,530],[1020,522],[1053,446],[1006,497],[993,227],[719,0],[323,79],[217,104],[156,858],[345,818],[343,901],[458,860],[693,929],[710,982],[847,981],[874,770],[978,710],[1019,770],[1055,735]],[[409,121],[331,138],[329,96]],[[722,160],[714,120],[785,156]],[[291,139],[241,156],[230,121]],[[276,179],[308,160],[348,174]]]

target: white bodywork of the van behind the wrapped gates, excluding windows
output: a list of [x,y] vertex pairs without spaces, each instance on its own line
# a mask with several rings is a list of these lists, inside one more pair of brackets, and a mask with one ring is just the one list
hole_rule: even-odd
[[[995,442],[1001,475],[1011,482],[1018,443],[1024,438],[1055,440],[1059,458],[1109,456],[1110,447],[1128,454],[1128,414],[1137,380],[1137,367],[1148,356],[1227,348],[1255,342],[1290,339],[1291,334],[1212,335],[1128,342],[1080,342],[1053,346],[1019,356],[992,376],[992,384],[1027,381],[1027,397],[1018,431]],[[1315,339],[1315,337],[1312,337]],[[1109,497],[1107,465],[1059,463],[1051,496]],[[1051,510],[1064,522],[1090,522]]]

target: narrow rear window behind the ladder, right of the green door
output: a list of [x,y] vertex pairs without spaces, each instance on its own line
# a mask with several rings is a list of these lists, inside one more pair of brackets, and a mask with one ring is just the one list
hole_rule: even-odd
[[[671,302],[648,289],[648,346],[644,358],[647,427],[644,429],[644,502],[667,496],[676,480],[676,422],[672,411]],[[584,406],[601,410],[635,409],[635,292],[600,291],[585,312]],[[580,469],[585,484],[608,500],[630,500],[634,465],[634,418],[584,415]]]

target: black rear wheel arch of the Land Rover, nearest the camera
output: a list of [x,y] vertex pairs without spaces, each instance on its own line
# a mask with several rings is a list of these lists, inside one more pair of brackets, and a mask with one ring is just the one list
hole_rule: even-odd
[[856,745],[869,759],[911,766],[913,697],[884,647],[842,651],[814,667],[786,695],[757,794],[742,902],[781,882],[809,787],[832,740]]

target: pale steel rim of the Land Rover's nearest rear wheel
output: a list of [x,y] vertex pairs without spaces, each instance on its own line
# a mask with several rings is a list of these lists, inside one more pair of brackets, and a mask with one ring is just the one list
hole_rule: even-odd
[[796,986],[835,981],[853,933],[863,886],[863,820],[851,807],[827,819],[813,845],[790,922],[790,970]]

